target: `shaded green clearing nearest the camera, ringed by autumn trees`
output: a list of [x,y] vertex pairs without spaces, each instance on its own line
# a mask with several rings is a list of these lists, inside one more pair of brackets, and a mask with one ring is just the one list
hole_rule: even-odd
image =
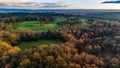
[[35,46],[39,46],[39,45],[50,45],[50,44],[61,44],[63,43],[60,40],[39,40],[39,41],[30,41],[30,42],[22,42],[20,43],[18,46],[22,49],[29,49]]

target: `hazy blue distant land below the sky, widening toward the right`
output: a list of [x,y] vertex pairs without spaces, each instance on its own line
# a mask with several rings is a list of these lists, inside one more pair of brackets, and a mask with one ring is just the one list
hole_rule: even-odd
[[120,21],[120,10],[102,10],[102,9],[8,9],[0,8],[0,13],[41,13],[54,12],[62,14],[78,15],[85,18],[100,18]]

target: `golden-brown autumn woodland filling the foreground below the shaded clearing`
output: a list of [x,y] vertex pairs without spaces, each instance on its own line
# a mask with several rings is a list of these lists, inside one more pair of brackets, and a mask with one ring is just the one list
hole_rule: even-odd
[[50,46],[41,45],[24,52],[18,52],[12,56],[7,55],[4,61],[9,65],[1,63],[3,67],[8,66],[12,68],[87,68],[104,66],[101,58],[85,52],[79,54],[77,49],[70,43],[61,45],[51,44]]

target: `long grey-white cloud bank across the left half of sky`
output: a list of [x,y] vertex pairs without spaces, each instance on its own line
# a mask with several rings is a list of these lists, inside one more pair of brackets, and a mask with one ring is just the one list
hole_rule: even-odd
[[0,0],[1,7],[25,7],[25,8],[66,8],[69,5],[64,2],[57,3],[38,3],[38,2],[30,2],[29,0]]

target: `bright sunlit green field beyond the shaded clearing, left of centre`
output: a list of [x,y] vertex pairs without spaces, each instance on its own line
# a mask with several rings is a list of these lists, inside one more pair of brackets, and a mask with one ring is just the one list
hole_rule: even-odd
[[28,21],[28,22],[22,22],[19,24],[19,26],[16,28],[16,30],[40,30],[40,31],[46,31],[46,30],[54,30],[58,28],[57,24],[40,24],[37,21]]

